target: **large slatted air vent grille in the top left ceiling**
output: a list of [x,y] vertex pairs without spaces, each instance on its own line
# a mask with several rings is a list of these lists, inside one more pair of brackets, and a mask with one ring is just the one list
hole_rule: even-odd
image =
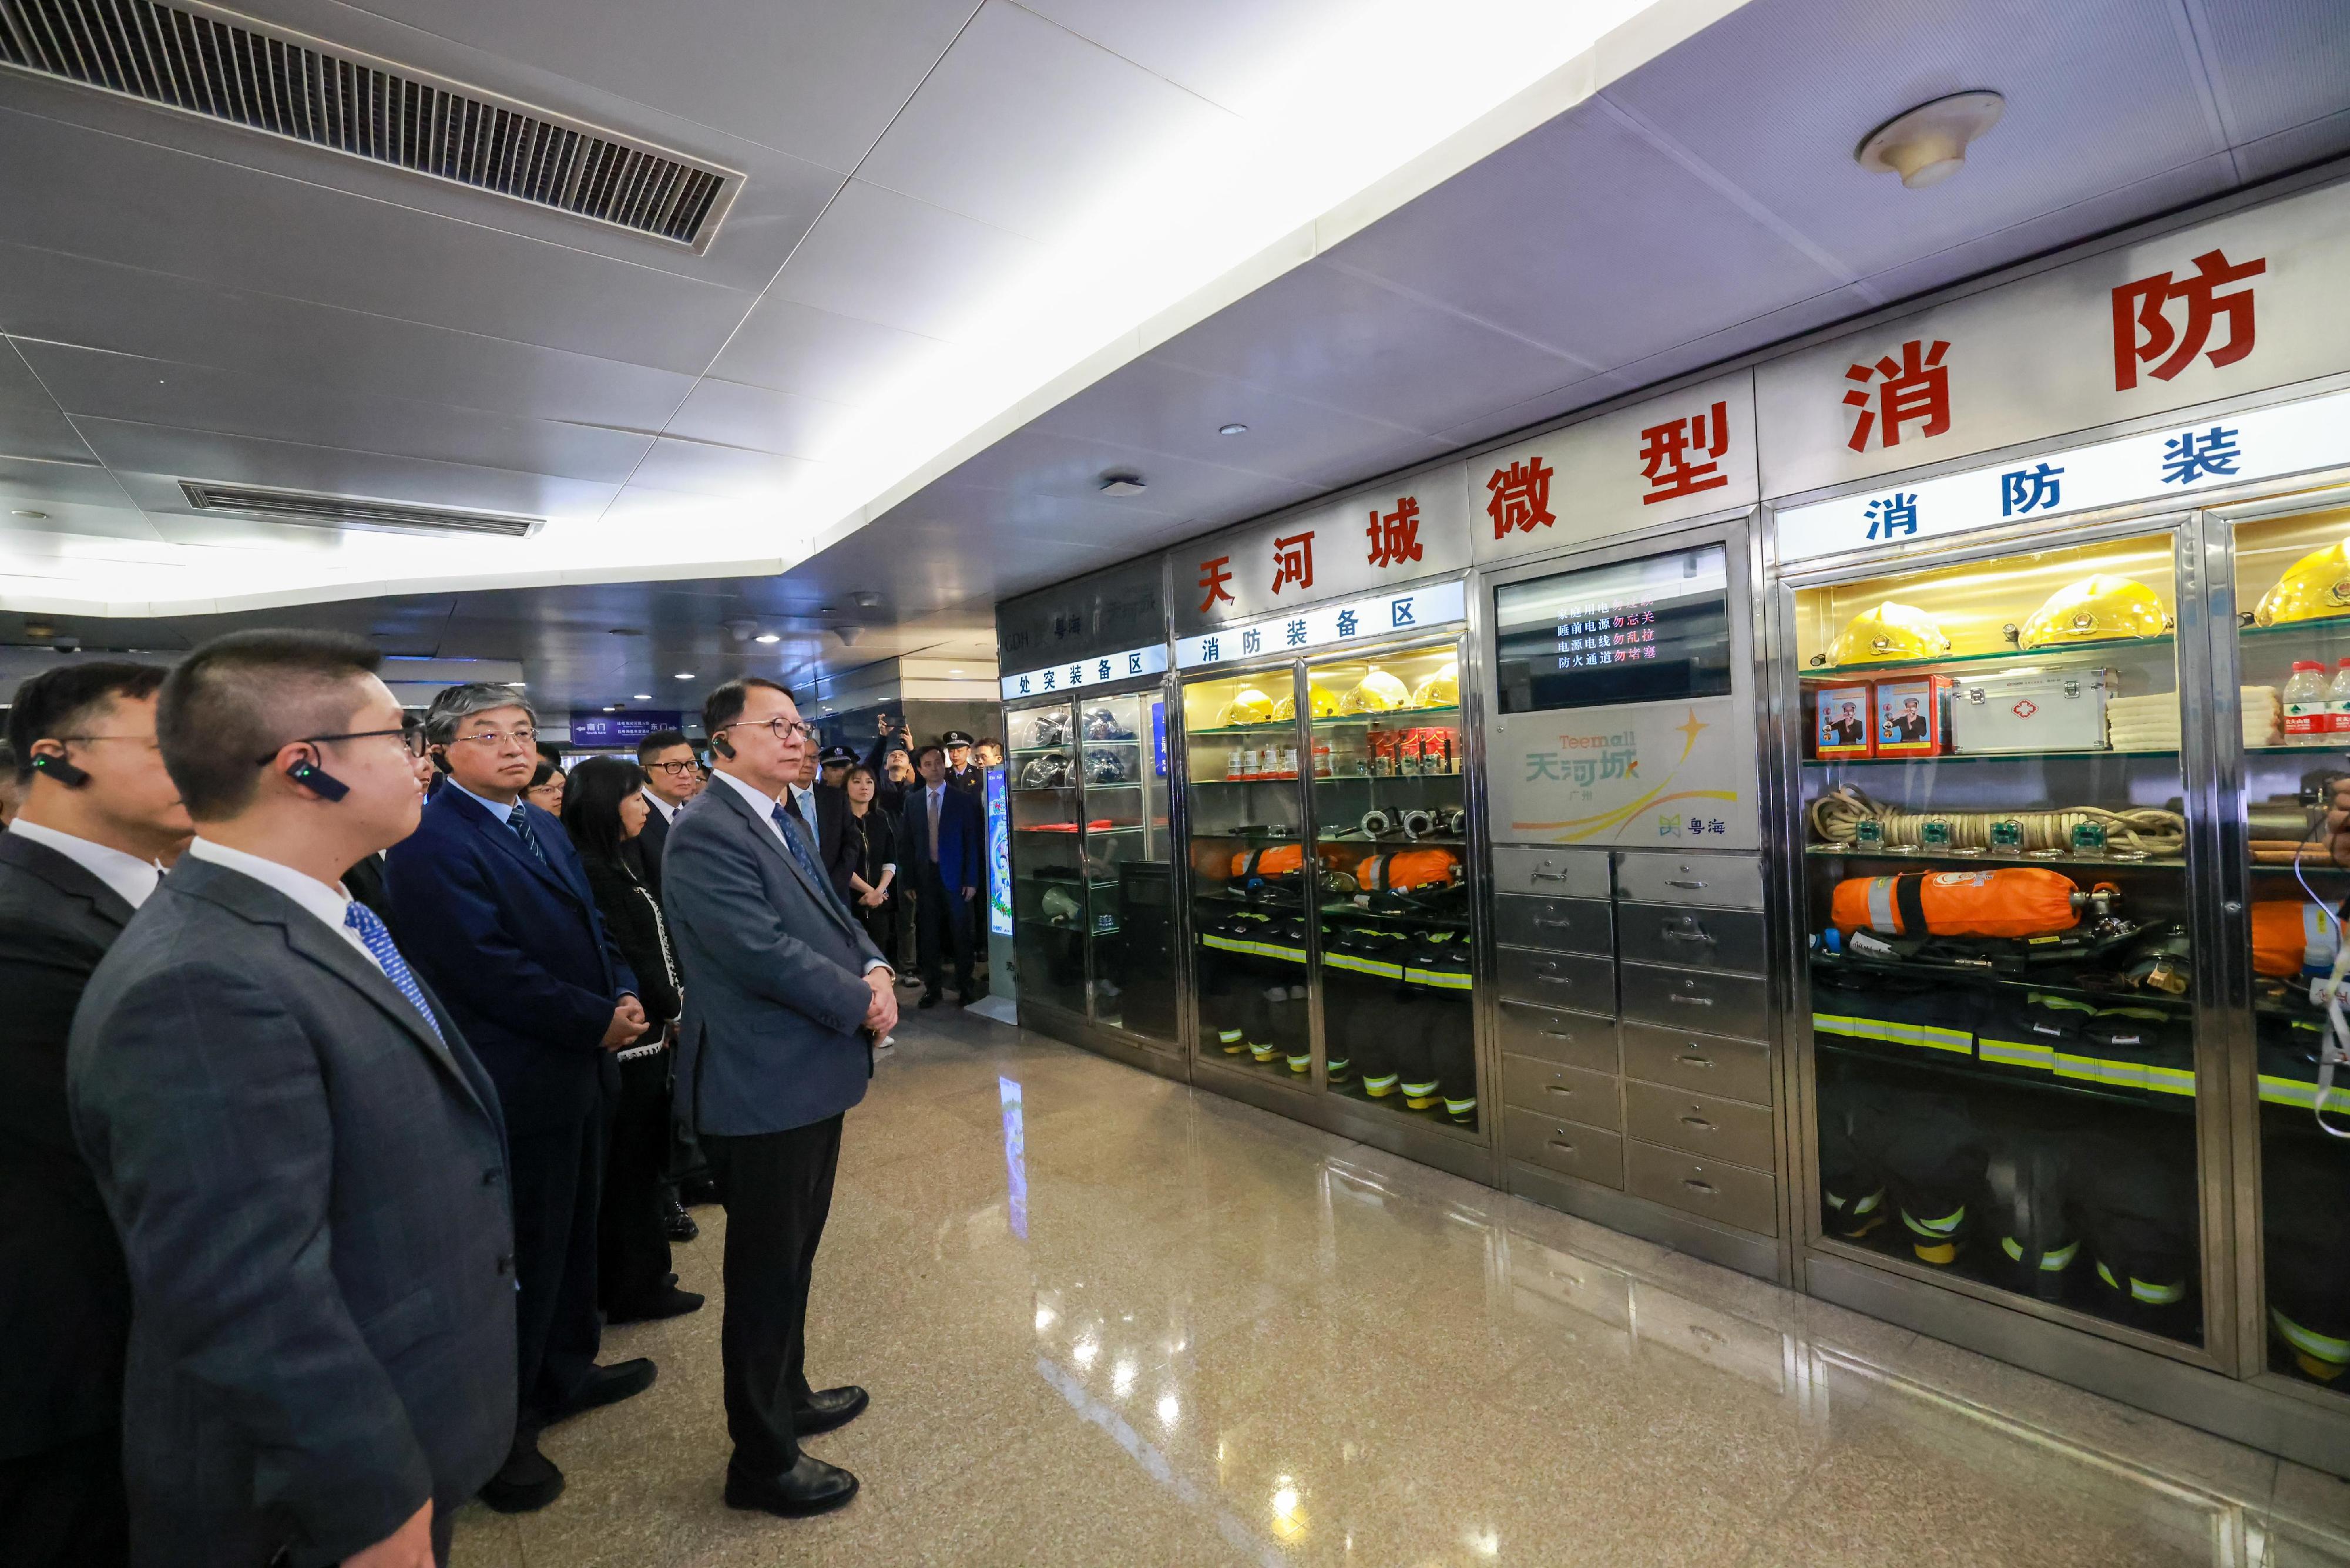
[[0,63],[693,249],[731,174],[155,0],[0,0]]

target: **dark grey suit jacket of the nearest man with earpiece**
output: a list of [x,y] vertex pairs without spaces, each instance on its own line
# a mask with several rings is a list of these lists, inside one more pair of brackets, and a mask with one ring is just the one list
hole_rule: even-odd
[[503,1462],[505,1140],[456,1016],[435,1018],[439,1037],[338,931],[195,858],[92,976],[68,1074],[132,1272],[141,1568],[334,1563]]

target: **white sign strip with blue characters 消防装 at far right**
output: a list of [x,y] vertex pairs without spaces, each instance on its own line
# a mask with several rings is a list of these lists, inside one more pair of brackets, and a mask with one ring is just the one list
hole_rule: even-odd
[[1779,559],[1887,548],[2129,501],[2190,498],[2341,463],[2350,463],[2350,393],[2329,393],[1791,505],[1779,512]]

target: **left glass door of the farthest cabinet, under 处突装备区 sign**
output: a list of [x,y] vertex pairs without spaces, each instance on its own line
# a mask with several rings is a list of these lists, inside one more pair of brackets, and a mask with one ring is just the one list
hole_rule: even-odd
[[1020,994],[1086,1011],[1086,933],[1100,879],[1088,872],[1079,750],[1069,703],[1010,715],[1013,957]]

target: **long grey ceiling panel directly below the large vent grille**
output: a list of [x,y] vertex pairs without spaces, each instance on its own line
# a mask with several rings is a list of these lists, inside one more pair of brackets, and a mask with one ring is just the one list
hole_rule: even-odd
[[[14,80],[0,73],[0,103]],[[750,308],[736,289],[7,108],[0,143],[7,237],[94,261],[674,371],[700,371]]]

